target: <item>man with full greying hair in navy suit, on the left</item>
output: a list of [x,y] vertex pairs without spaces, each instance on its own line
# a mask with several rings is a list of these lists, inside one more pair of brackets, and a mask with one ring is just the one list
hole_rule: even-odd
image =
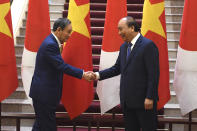
[[91,73],[64,63],[60,47],[71,35],[70,20],[59,18],[53,32],[41,44],[36,57],[35,71],[29,96],[36,114],[33,131],[56,131],[56,107],[62,95],[63,73],[88,80]]

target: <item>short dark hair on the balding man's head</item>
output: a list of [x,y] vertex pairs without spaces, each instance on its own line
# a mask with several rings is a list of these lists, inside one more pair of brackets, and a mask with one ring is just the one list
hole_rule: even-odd
[[135,19],[131,16],[127,16],[126,18],[126,22],[127,22],[127,26],[128,27],[134,27],[134,31],[135,32],[139,32],[140,31],[140,26],[138,25],[138,23],[135,21]]

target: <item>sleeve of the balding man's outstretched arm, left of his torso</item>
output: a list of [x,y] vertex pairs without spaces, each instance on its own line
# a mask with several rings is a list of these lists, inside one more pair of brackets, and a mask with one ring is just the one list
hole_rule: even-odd
[[116,60],[116,63],[108,69],[99,71],[99,75],[100,75],[99,80],[104,80],[107,78],[120,75],[120,53],[119,53],[118,59]]

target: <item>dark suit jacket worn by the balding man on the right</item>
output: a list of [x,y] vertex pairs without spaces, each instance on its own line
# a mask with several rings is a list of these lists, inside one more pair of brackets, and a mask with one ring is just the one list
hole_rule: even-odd
[[121,74],[120,101],[129,108],[144,108],[145,98],[158,100],[159,52],[156,45],[142,35],[126,60],[128,44],[120,47],[114,66],[100,71],[100,80]]

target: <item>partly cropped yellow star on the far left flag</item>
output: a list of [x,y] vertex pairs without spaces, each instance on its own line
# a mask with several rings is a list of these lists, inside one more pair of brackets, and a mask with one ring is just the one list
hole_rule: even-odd
[[7,16],[8,12],[10,10],[10,3],[4,3],[0,4],[0,32],[12,37],[12,34],[10,32],[10,29],[8,27],[8,24],[5,20],[5,17]]

